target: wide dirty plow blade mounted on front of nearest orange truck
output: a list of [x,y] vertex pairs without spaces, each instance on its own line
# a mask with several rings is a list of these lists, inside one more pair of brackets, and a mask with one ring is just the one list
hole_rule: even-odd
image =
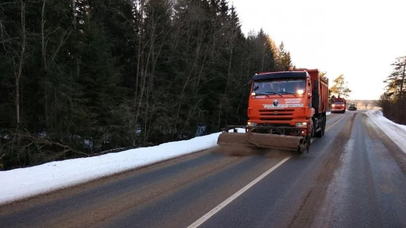
[[237,133],[223,132],[217,139],[217,144],[220,146],[248,146],[257,148],[273,148],[287,150],[304,150],[303,137],[278,135],[278,134],[262,134],[254,132]]

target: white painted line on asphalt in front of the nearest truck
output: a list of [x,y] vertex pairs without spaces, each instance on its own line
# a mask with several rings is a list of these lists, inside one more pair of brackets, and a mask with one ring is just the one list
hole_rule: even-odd
[[252,187],[254,184],[256,184],[258,181],[263,179],[266,175],[274,171],[276,168],[281,166],[283,163],[288,161],[291,157],[287,157],[284,160],[278,162],[275,166],[272,168],[268,169],[266,172],[264,172],[262,175],[257,177],[255,180],[251,181],[249,184],[245,185],[243,188],[241,188],[238,192],[234,193],[232,196],[230,196],[228,199],[223,201],[221,204],[219,204],[217,207],[213,208],[211,211],[209,211],[207,214],[203,215],[201,218],[197,219],[195,222],[193,222],[191,225],[189,225],[187,228],[194,228],[199,225],[201,225],[203,222],[205,222],[207,219],[212,217],[214,214],[219,212],[222,208],[224,208],[227,204],[231,203],[233,200],[235,200],[237,197],[239,197],[241,194],[246,192],[250,187]]

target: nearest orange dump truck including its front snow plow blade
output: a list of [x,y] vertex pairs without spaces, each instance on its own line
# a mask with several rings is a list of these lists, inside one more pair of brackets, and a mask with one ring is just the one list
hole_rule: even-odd
[[[319,70],[261,72],[250,84],[247,125],[227,126],[217,144],[309,153],[313,138],[322,137],[326,127],[328,81]],[[245,133],[236,128],[245,128]]]

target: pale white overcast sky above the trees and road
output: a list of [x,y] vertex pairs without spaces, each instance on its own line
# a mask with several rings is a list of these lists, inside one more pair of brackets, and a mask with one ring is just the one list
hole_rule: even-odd
[[396,57],[406,55],[406,0],[229,0],[242,30],[283,41],[300,68],[344,74],[349,99],[379,99]]

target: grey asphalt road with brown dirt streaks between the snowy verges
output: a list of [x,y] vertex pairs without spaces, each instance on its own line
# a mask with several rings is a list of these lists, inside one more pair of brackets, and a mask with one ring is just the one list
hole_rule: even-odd
[[0,227],[406,227],[406,155],[362,110],[327,129],[301,156],[211,149],[0,206]]

